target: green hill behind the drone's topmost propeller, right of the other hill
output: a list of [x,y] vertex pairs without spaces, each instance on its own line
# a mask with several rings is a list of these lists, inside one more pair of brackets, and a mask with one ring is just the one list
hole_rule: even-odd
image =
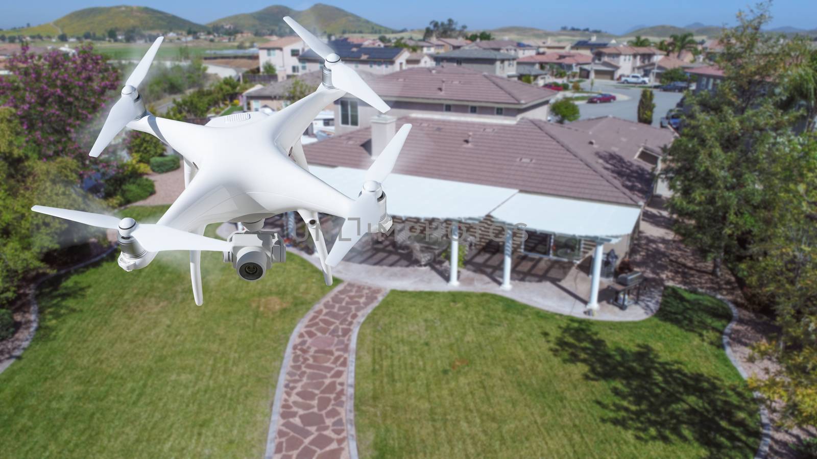
[[292,29],[283,22],[283,16],[292,16],[307,29],[321,33],[391,33],[394,30],[373,23],[360,16],[338,7],[316,3],[304,10],[292,10],[289,7],[274,5],[261,11],[228,16],[214,20],[209,25],[233,25],[239,29],[254,32],[269,31],[279,35],[288,35]]

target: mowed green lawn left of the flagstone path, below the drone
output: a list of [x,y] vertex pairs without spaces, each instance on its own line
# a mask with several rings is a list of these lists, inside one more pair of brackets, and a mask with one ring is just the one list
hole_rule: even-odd
[[132,273],[116,255],[40,289],[40,328],[0,375],[0,457],[261,457],[288,338],[323,276],[290,256],[248,283],[205,252],[199,307],[187,252]]

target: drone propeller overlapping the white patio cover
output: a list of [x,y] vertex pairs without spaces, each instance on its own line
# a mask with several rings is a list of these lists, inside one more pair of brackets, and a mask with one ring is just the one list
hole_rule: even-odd
[[380,230],[382,210],[377,202],[382,196],[382,182],[395,168],[408,131],[411,131],[411,124],[406,123],[400,127],[400,131],[391,138],[386,148],[366,171],[363,190],[349,209],[349,217],[343,222],[341,232],[337,234],[332,252],[326,257],[327,265],[337,266],[364,234]]

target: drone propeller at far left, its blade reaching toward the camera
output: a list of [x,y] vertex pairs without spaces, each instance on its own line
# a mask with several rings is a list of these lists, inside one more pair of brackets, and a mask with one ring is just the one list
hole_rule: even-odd
[[232,250],[232,246],[226,241],[176,230],[170,226],[136,223],[136,221],[130,217],[120,220],[115,216],[45,206],[34,206],[31,207],[31,210],[50,216],[58,216],[65,220],[77,221],[85,225],[117,230],[120,236],[135,238],[148,252],[162,252],[166,250],[210,250],[213,252],[226,252]]

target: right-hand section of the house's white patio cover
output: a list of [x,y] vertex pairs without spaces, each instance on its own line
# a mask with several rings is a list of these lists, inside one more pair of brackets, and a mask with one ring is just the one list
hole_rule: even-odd
[[494,209],[491,215],[509,225],[524,223],[530,230],[588,239],[617,240],[632,233],[641,209],[519,193]]

